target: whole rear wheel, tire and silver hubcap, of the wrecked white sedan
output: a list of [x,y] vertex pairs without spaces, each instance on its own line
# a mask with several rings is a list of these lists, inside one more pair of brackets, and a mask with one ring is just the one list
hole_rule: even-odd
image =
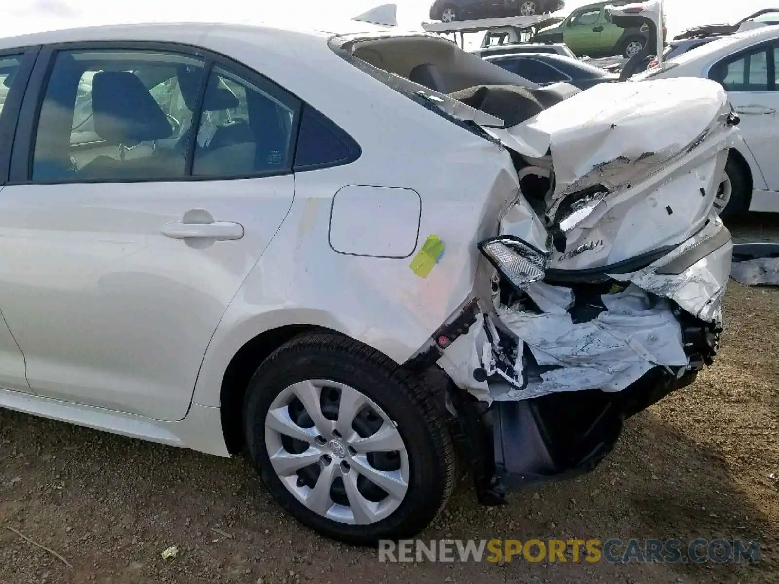
[[[361,405],[350,409],[350,403]],[[307,335],[257,369],[244,431],[263,483],[295,519],[326,537],[375,545],[425,529],[451,494],[453,443],[435,403],[413,375],[370,347],[344,336]],[[365,430],[371,417],[374,426]],[[375,450],[379,434],[393,442]],[[361,440],[368,438],[374,442],[366,448]],[[290,456],[298,459],[284,466]],[[299,459],[312,462],[298,467]]]

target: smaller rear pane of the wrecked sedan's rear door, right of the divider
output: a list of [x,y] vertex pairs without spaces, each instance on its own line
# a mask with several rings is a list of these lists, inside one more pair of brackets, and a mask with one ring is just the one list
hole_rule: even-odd
[[203,97],[192,174],[291,171],[299,113],[298,100],[277,86],[215,66]]

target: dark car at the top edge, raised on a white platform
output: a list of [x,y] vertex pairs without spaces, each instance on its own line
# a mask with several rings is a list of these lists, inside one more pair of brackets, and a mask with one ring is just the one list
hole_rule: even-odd
[[533,16],[565,7],[562,0],[435,0],[430,7],[430,18],[453,23],[456,20]]

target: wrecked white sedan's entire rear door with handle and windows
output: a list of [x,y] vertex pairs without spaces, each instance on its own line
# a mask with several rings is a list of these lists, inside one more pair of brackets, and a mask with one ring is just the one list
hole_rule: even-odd
[[41,51],[0,193],[0,307],[34,392],[185,416],[217,323],[291,206],[298,111],[199,49]]

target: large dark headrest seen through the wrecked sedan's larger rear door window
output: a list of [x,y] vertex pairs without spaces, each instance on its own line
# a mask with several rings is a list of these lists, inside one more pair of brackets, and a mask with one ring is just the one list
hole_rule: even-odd
[[100,71],[92,78],[95,132],[108,142],[131,144],[173,133],[151,93],[132,72]]

